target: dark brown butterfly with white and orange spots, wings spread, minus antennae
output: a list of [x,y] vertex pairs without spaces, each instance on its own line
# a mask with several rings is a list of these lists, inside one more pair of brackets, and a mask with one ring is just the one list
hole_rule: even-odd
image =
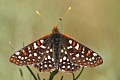
[[103,63],[101,56],[77,42],[61,34],[57,27],[52,33],[41,37],[22,49],[16,51],[10,62],[18,65],[33,65],[40,72],[73,72],[81,66],[95,67]]

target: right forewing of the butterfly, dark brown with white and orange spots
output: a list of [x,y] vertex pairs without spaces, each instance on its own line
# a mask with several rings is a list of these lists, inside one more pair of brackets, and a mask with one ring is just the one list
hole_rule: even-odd
[[99,54],[74,39],[63,35],[63,41],[63,45],[68,53],[67,55],[72,63],[90,67],[103,63]]

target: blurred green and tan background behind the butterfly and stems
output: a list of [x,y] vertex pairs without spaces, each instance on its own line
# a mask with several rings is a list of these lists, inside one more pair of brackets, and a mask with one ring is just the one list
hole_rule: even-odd
[[[64,33],[98,52],[104,60],[101,66],[85,68],[79,80],[120,79],[120,0],[0,0],[0,80],[22,80],[18,66],[9,62],[15,52],[9,41],[19,50],[23,42],[27,45],[51,33],[69,6],[72,9],[63,19]],[[26,67],[21,68],[24,80],[33,80]],[[42,78],[48,75],[40,73]],[[55,80],[61,75],[64,80],[72,80],[71,74],[62,72]]]

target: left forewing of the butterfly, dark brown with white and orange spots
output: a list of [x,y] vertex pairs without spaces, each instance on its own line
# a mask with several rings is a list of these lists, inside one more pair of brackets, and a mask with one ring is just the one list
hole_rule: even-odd
[[45,57],[44,53],[47,49],[48,41],[49,41],[49,35],[46,35],[34,41],[33,43],[15,52],[10,57],[10,62],[18,66],[30,65],[30,64],[42,62]]

